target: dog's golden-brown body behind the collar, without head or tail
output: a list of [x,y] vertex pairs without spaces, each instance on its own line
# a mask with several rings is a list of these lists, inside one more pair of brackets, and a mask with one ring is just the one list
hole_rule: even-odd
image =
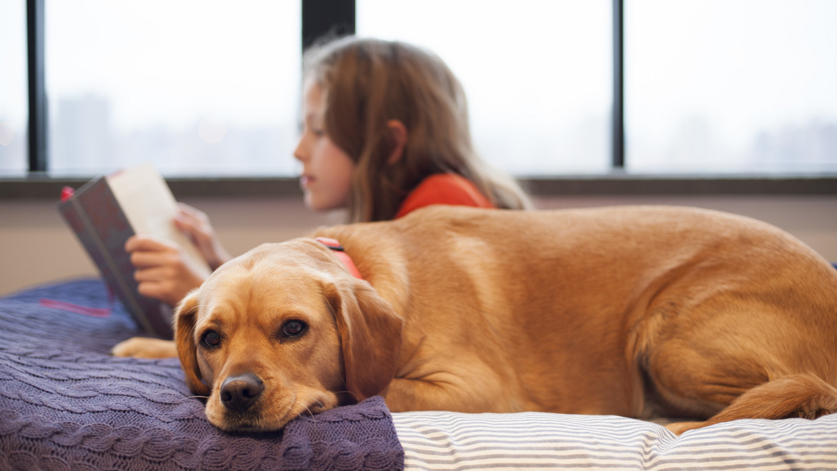
[[766,223],[430,207],[322,235],[403,312],[402,355],[489,371],[496,410],[709,417],[768,381],[837,384],[837,270]]

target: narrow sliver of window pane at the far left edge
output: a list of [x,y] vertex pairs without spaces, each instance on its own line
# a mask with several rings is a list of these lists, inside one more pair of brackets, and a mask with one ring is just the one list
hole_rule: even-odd
[[0,11],[0,175],[28,170],[26,2],[9,0]]

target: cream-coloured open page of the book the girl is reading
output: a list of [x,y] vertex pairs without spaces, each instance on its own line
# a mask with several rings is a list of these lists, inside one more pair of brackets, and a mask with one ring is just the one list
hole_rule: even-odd
[[174,225],[177,201],[153,165],[148,163],[117,172],[107,177],[107,182],[136,233],[177,243],[195,266],[206,275],[210,273],[198,248]]

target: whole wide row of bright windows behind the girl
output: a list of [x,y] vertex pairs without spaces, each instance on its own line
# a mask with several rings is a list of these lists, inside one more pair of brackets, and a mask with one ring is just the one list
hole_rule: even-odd
[[478,151],[518,177],[621,161],[634,174],[837,172],[834,0],[12,0],[3,174],[44,161],[41,146],[28,159],[27,114],[43,114],[26,105],[23,21],[41,3],[56,177],[142,161],[167,177],[294,176],[301,38],[336,24],[439,54]]

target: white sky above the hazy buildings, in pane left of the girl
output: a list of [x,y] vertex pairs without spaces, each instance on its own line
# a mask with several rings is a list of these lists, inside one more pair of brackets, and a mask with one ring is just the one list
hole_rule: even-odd
[[110,97],[116,125],[296,120],[300,3],[48,2],[54,97]]

